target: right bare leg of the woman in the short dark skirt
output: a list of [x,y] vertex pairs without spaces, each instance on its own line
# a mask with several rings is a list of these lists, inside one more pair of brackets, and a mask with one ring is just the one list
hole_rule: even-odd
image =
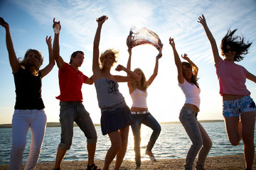
[[128,143],[128,135],[129,135],[129,126],[122,128],[119,130],[119,134],[121,136],[122,144],[117,152],[117,161],[114,166],[114,170],[118,170],[122,164],[122,161],[124,159],[124,155],[127,151],[127,143]]

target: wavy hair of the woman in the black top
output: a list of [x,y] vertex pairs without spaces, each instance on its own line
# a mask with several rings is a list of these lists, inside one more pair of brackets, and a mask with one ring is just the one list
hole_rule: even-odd
[[[39,60],[36,64],[29,64],[27,57],[28,53],[33,52],[36,54],[37,59]],[[23,57],[23,59],[18,58],[18,63],[21,65],[22,68],[27,69],[33,76],[38,76],[39,68],[43,64],[43,55],[40,51],[34,49],[28,49]]]

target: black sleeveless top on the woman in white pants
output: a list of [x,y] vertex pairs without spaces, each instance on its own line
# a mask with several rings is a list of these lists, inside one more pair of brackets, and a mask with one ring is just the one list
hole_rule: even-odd
[[15,109],[38,109],[45,108],[41,98],[42,76],[33,76],[28,70],[19,68],[14,74],[14,83],[16,88]]

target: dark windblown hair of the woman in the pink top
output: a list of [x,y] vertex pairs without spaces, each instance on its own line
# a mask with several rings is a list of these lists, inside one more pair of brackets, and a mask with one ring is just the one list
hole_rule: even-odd
[[221,49],[221,55],[224,56],[227,45],[229,45],[236,52],[234,61],[240,62],[244,58],[244,55],[247,55],[248,48],[250,47],[250,45],[252,45],[252,42],[247,41],[247,43],[245,43],[243,37],[241,38],[238,35],[234,35],[235,31],[237,30],[238,29],[235,29],[235,30],[228,29],[228,33],[221,40],[220,49]]

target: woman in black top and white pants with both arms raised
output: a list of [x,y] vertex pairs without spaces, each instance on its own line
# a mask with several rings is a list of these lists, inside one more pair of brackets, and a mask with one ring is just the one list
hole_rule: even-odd
[[24,169],[34,169],[38,162],[46,129],[46,113],[43,111],[44,105],[41,98],[41,79],[53,69],[55,64],[51,37],[46,37],[49,64],[44,69],[39,70],[43,64],[41,52],[29,49],[26,51],[23,60],[17,59],[9,24],[3,18],[0,18],[0,25],[6,30],[6,47],[16,87],[16,103],[12,119],[10,169],[21,168],[28,128],[31,128],[31,145]]

